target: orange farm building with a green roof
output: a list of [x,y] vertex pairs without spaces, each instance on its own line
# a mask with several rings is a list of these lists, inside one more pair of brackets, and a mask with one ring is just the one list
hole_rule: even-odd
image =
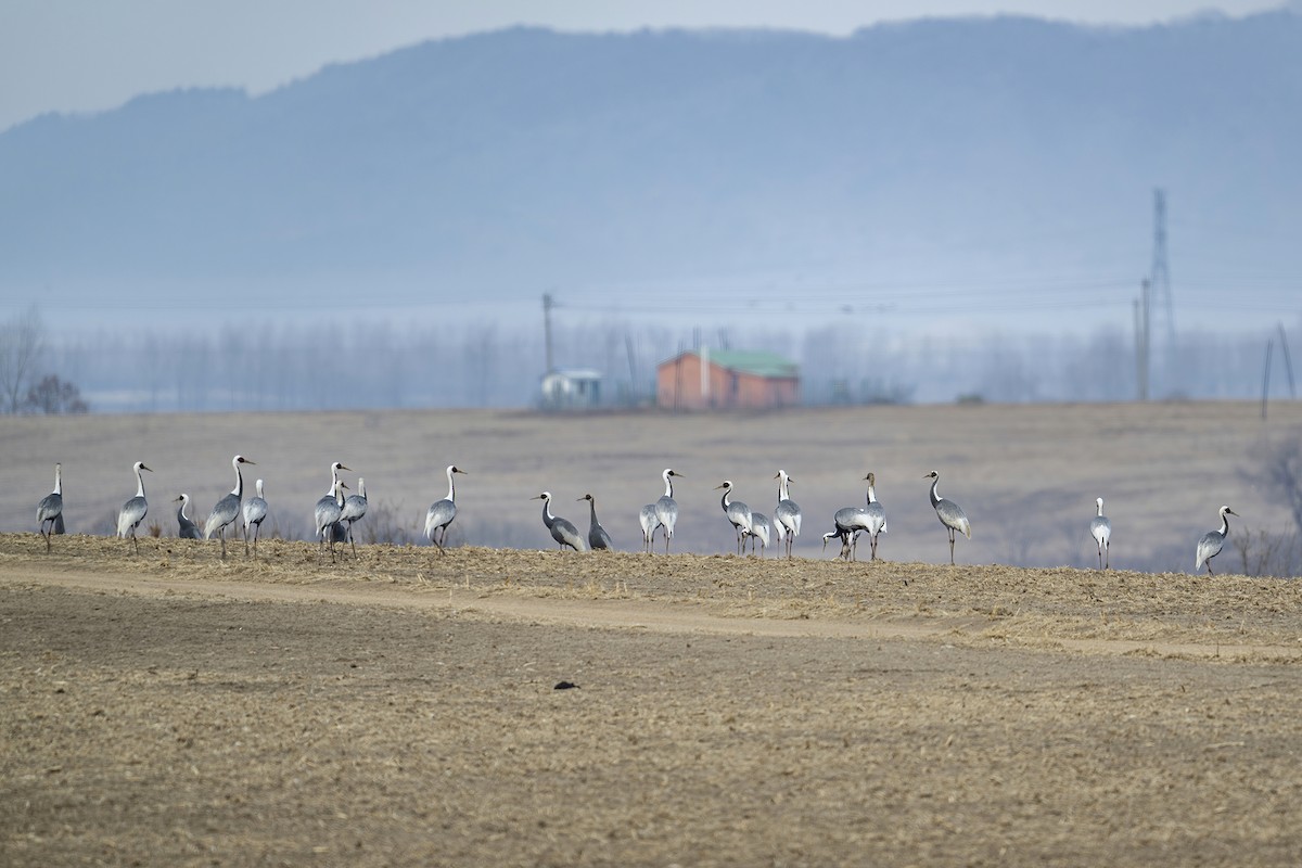
[[665,410],[771,410],[797,403],[799,393],[799,366],[762,350],[700,349],[656,370],[656,403]]

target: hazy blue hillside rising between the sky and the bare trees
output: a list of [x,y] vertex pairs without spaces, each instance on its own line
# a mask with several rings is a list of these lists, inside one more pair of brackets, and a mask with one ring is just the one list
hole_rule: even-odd
[[133,286],[148,306],[202,281],[251,303],[247,281],[283,280],[331,305],[383,275],[535,297],[941,254],[1138,276],[1159,185],[1187,220],[1186,275],[1226,243],[1297,273],[1299,57],[1284,12],[431,42],[255,99],[158,94],[8,130],[0,292]]

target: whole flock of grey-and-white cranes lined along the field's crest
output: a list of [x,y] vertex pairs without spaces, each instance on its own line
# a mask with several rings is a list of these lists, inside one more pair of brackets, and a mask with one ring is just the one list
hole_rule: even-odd
[[[191,519],[186,510],[190,506],[190,496],[180,495],[173,500],[173,502],[181,504],[177,509],[177,528],[178,536],[182,539],[212,539],[216,534],[217,539],[221,540],[221,557],[227,557],[227,527],[232,524],[243,526],[243,540],[245,540],[245,554],[249,554],[249,534],[253,531],[253,556],[258,556],[258,535],[262,530],[262,522],[267,518],[267,501],[263,497],[263,484],[262,480],[256,480],[254,488],[256,493],[247,500],[243,497],[243,474],[241,471],[241,465],[253,465],[255,462],[245,458],[243,455],[236,455],[230,459],[230,466],[236,472],[236,484],[230,489],[230,493],[225,495],[221,500],[216,502],[212,511],[208,513],[207,521],[203,523],[201,531],[199,524]],[[137,461],[132,466],[135,474],[135,496],[122,504],[121,510],[117,514],[117,536],[122,539],[130,539],[133,552],[139,552],[139,540],[135,536],[137,528],[141,522],[145,521],[145,515],[148,513],[148,501],[145,497],[145,478],[141,471],[150,471],[145,466],[145,462]],[[329,547],[331,561],[335,560],[335,544],[348,543],[353,548],[353,553],[357,552],[357,544],[353,541],[353,524],[366,515],[366,481],[359,476],[357,479],[357,493],[345,496],[344,492],[348,485],[339,476],[339,471],[349,470],[341,462],[333,462],[331,465],[331,487],[326,495],[316,501],[316,508],[314,510],[315,519],[315,537],[319,541],[319,547],[324,549]],[[452,524],[453,519],[457,517],[457,489],[456,489],[456,474],[465,474],[456,465],[448,465],[448,496],[435,501],[430,505],[428,511],[424,518],[424,535],[426,537],[439,548],[440,553],[447,553],[444,543],[447,541],[448,527]],[[654,504],[647,504],[639,510],[639,522],[642,524],[642,550],[646,553],[652,553],[655,549],[655,534],[661,531],[664,536],[664,550],[665,554],[669,553],[669,543],[673,540],[673,530],[678,523],[678,504],[673,498],[673,480],[674,478],[681,478],[682,474],[674,471],[673,468],[665,467],[660,474],[664,480],[664,495],[661,495]],[[737,554],[741,556],[746,550],[746,543],[750,543],[751,553],[755,553],[755,545],[760,547],[759,554],[763,557],[768,547],[772,544],[773,537],[777,537],[777,543],[785,543],[786,557],[792,557],[792,544],[796,537],[801,534],[801,508],[796,501],[790,498],[789,485],[794,480],[785,470],[779,470],[773,476],[777,480],[777,506],[773,509],[773,515],[769,518],[764,513],[753,510],[750,506],[740,500],[732,498],[733,484],[732,480],[725,479],[723,483],[715,487],[715,491],[723,489],[723,496],[720,497],[720,505],[723,506],[724,515],[736,531],[737,541]],[[963,513],[958,504],[941,497],[937,487],[940,485],[940,474],[932,470],[924,476],[924,479],[931,480],[931,506],[936,510],[936,518],[940,519],[941,526],[949,534],[949,562],[954,563],[954,540],[957,534],[962,534],[967,539],[973,536],[971,522],[967,521],[967,515]],[[876,484],[876,478],[874,474],[868,474],[863,478],[863,481],[868,484],[867,502],[865,506],[845,506],[836,510],[832,517],[835,528],[823,534],[823,548],[827,549],[827,544],[832,539],[837,539],[841,543],[840,558],[842,560],[855,560],[858,537],[861,534],[867,534],[868,543],[871,547],[870,560],[878,560],[878,537],[887,532],[887,513],[885,508],[878,501],[874,485]],[[543,492],[533,500],[543,501],[543,524],[547,527],[552,539],[556,540],[557,545],[564,548],[572,548],[577,552],[587,552],[596,549],[613,549],[615,545],[611,541],[611,535],[607,534],[605,528],[596,518],[596,498],[592,495],[583,495],[579,501],[587,501],[590,509],[589,518],[589,532],[587,535],[579,534],[578,527],[574,526],[569,519],[561,518],[560,515],[552,514],[552,493]],[[1111,552],[1109,547],[1112,543],[1112,522],[1103,514],[1103,498],[1096,500],[1098,514],[1090,521],[1090,535],[1099,549],[1099,569],[1111,569]],[[46,540],[46,552],[51,550],[51,536],[64,532],[64,497],[62,497],[62,466],[55,465],[55,489],[46,495],[40,502],[36,505],[36,522],[40,530],[40,535]],[[1225,537],[1229,535],[1229,519],[1228,515],[1238,515],[1229,506],[1220,508],[1220,530],[1208,531],[1198,540],[1198,549],[1195,554],[1194,571],[1200,571],[1203,566],[1207,566],[1207,573],[1212,573],[1212,558],[1216,557],[1225,544]]]

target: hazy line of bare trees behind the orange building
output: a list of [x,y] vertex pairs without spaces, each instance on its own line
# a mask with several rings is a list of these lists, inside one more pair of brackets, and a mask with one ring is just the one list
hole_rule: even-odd
[[[559,324],[553,340],[557,364],[602,371],[605,400],[616,405],[650,401],[656,364],[700,344],[792,358],[807,403],[1128,401],[1137,390],[1133,344],[1120,328],[919,338],[862,319],[710,332],[612,319]],[[540,328],[484,320],[143,327],[43,342],[44,367],[108,411],[523,407],[536,403],[544,373]],[[1155,397],[1256,398],[1263,347],[1253,333],[1187,334]],[[31,366],[16,367],[8,349],[3,355],[8,409]]]

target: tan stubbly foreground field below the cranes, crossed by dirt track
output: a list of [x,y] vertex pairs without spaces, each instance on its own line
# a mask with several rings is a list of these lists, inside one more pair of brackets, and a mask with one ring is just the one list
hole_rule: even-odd
[[3,865],[1302,863],[1297,582],[43,548]]

